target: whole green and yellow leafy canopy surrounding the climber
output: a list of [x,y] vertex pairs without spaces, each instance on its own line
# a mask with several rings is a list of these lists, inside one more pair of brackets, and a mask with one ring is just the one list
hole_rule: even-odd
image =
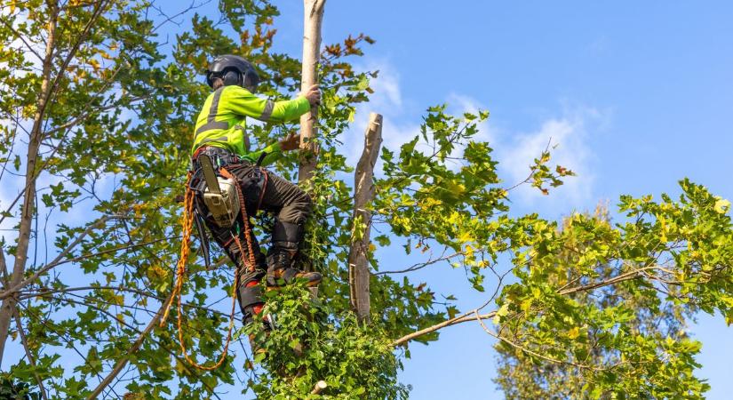
[[[275,4],[220,0],[219,20],[197,13],[207,4],[177,15],[137,0],[2,5],[0,180],[17,198],[0,204],[16,234],[0,252],[0,360],[9,372],[0,391],[217,398],[240,384],[260,398],[406,398],[397,372],[410,343],[473,322],[497,340],[507,397],[702,398],[700,343],[685,326],[698,312],[733,321],[729,202],[682,179],[674,196],[623,196],[617,209],[569,210],[562,222],[517,215],[517,185],[552,196],[573,172],[548,149],[526,180],[504,182],[501,160],[476,138],[489,112],[436,105],[413,140],[382,150],[372,219],[355,219],[342,140],[378,77],[351,65],[373,42],[358,33],[325,44],[321,57],[319,153],[305,182],[315,200],[306,258],[325,276],[319,298],[298,285],[269,293],[281,329],[238,329],[212,371],[188,363],[181,344],[202,364],[224,349],[233,281],[223,254],[206,268],[192,252],[183,313],[159,326],[179,257],[176,198],[209,93],[201,73],[212,54],[236,53],[257,65],[263,95],[289,98],[300,83],[299,59],[272,51]],[[180,20],[191,28],[161,35]],[[296,129],[255,124],[249,133],[263,147]],[[298,163],[292,155],[273,168],[294,179]],[[378,235],[367,252],[372,315],[360,324],[347,259],[367,223]],[[378,248],[420,261],[380,260]],[[459,311],[452,296],[410,280],[428,267],[465,273],[486,301]],[[249,333],[263,343],[254,355]],[[24,356],[4,356],[11,346]],[[318,380],[328,388],[312,394]]]

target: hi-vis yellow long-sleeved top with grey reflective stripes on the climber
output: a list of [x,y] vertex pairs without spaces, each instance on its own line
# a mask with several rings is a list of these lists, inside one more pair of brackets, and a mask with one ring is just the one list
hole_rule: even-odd
[[281,123],[291,121],[310,110],[305,97],[295,100],[273,101],[260,99],[248,90],[235,85],[224,86],[212,92],[203,103],[201,113],[196,119],[193,154],[203,145],[227,148],[251,163],[264,151],[262,164],[269,164],[280,153],[280,145],[275,142],[267,148],[250,152],[246,140],[246,116],[264,122]]

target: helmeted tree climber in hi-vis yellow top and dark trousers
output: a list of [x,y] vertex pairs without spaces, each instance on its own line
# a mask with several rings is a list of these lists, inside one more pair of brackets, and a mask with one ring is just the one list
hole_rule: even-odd
[[[235,55],[213,60],[206,71],[206,83],[213,92],[196,119],[191,149],[194,175],[190,185],[196,193],[195,222],[207,263],[208,242],[203,225],[235,263],[239,282],[237,298],[244,324],[251,324],[253,316],[264,306],[259,285],[263,276],[267,275],[268,286],[289,283],[296,278],[315,285],[321,282],[322,276],[318,272],[303,272],[293,265],[311,212],[310,196],[263,168],[281,152],[299,148],[299,137],[291,134],[259,151],[251,151],[245,120],[248,116],[266,123],[298,119],[320,103],[321,92],[314,85],[294,100],[259,98],[254,94],[259,83],[257,72],[250,62]],[[249,219],[258,210],[275,214],[267,258],[259,249]]]

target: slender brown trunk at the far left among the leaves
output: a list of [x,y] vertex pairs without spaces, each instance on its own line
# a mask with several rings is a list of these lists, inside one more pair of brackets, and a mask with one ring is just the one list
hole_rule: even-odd
[[[20,213],[20,227],[18,229],[18,248],[15,251],[15,263],[12,266],[12,276],[10,278],[9,287],[20,284],[26,269],[26,261],[28,260],[28,245],[30,244],[31,222],[35,211],[36,199],[36,160],[38,158],[38,148],[41,147],[43,140],[43,122],[44,112],[49,100],[51,92],[51,68],[53,49],[56,42],[56,23],[59,17],[59,6],[56,2],[49,4],[51,7],[51,15],[48,23],[48,37],[46,39],[46,49],[44,57],[44,68],[41,81],[41,92],[38,93],[36,102],[36,115],[33,116],[33,127],[30,130],[30,140],[28,142],[28,158],[26,160],[26,187],[23,193],[23,208]],[[11,295],[3,300],[3,306],[0,308],[0,365],[3,363],[3,354],[5,349],[5,341],[8,339],[10,322],[15,308],[15,296]]]

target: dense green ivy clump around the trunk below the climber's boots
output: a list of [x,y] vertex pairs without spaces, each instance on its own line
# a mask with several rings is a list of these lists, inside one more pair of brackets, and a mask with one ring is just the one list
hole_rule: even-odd
[[[300,285],[268,292],[264,313],[276,316],[275,331],[262,330],[261,320],[243,329],[259,343],[254,360],[264,371],[250,381],[258,398],[407,398],[388,332],[359,326]],[[328,388],[304,396],[318,380]]]

